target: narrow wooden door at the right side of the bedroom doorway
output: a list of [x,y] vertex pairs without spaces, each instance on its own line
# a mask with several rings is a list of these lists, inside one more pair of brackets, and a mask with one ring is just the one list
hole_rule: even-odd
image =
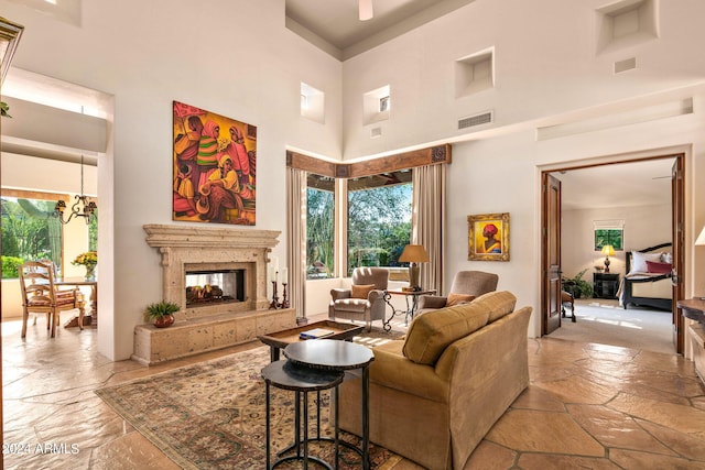
[[683,297],[683,273],[685,272],[685,253],[683,250],[685,242],[684,221],[684,181],[683,181],[683,159],[677,155],[673,170],[671,171],[671,212],[673,230],[673,303],[671,311],[673,315],[673,345],[680,354],[684,351],[684,321],[681,309],[677,308],[677,300]]

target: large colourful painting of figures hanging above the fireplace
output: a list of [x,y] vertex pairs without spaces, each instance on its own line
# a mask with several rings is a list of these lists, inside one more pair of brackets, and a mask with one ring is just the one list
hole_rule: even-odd
[[257,127],[174,101],[173,220],[253,226]]

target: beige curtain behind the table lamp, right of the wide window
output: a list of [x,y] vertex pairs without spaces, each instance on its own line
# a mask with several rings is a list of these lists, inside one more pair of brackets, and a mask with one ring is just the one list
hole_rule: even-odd
[[423,288],[435,288],[438,295],[445,287],[446,167],[443,163],[412,171],[412,243],[423,245],[431,260],[421,264],[420,283]]

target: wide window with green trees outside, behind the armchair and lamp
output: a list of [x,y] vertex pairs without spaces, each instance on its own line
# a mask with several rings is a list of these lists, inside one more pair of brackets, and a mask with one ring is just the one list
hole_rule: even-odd
[[411,171],[348,181],[348,275],[359,266],[399,266],[411,240]]

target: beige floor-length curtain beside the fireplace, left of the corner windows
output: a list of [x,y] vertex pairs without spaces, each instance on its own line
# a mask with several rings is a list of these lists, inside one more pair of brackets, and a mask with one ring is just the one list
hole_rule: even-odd
[[306,172],[286,168],[286,265],[289,298],[296,320],[305,319],[306,307]]

